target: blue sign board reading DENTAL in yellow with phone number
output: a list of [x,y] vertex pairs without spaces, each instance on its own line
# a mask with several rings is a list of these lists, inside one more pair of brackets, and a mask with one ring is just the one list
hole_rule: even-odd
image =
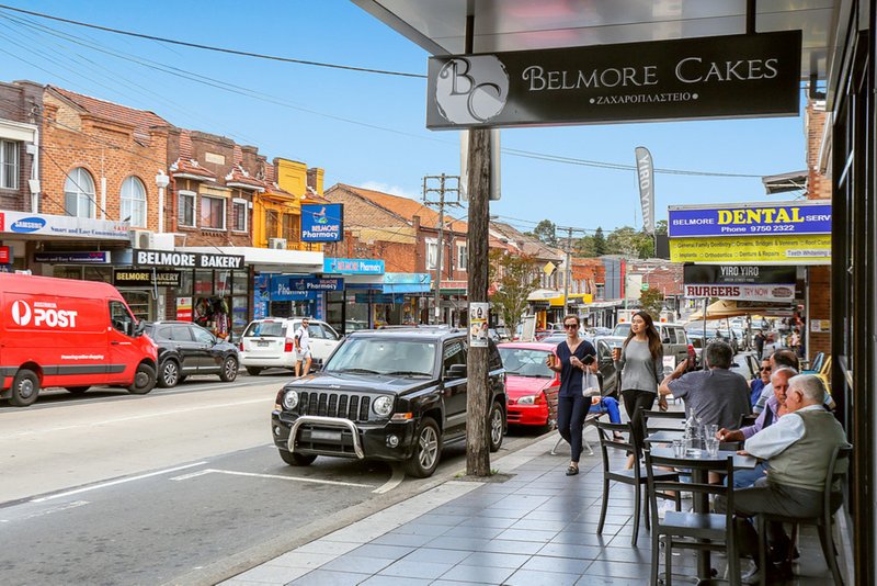
[[783,202],[670,206],[671,238],[831,234],[831,204]]

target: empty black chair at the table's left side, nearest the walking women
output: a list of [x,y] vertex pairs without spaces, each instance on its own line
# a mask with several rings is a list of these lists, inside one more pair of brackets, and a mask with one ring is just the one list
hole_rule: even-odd
[[[624,454],[635,453],[634,444],[624,440],[614,439],[615,432],[626,433],[628,438],[630,435],[630,424],[607,424],[604,421],[596,421],[597,433],[600,433],[600,450],[603,452],[603,503],[600,507],[600,522],[596,527],[597,534],[603,533],[603,525],[606,520],[606,508],[610,502],[610,482],[615,481],[622,484],[627,484],[634,487],[634,534],[630,543],[636,546],[637,537],[639,536],[639,518],[642,509],[640,504],[645,507],[646,530],[650,527],[649,521],[649,499],[648,491],[643,491],[646,486],[646,471],[640,465],[635,465],[630,470],[612,470],[610,466],[610,450],[617,450]],[[633,440],[631,440],[633,441]],[[637,463],[638,464],[638,463]],[[661,478],[679,481],[679,474],[675,471],[659,471]],[[673,500],[676,504],[676,510],[682,505],[679,493],[675,496],[661,493],[657,496],[661,498]]]

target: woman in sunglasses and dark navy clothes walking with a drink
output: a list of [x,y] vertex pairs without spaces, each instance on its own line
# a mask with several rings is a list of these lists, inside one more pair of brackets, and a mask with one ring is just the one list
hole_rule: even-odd
[[579,458],[582,453],[582,426],[584,415],[591,407],[591,397],[585,397],[582,388],[584,357],[596,356],[591,342],[579,337],[579,316],[568,315],[563,318],[567,339],[557,345],[555,354],[548,354],[545,363],[560,373],[560,391],[557,393],[557,428],[570,446],[570,461],[567,476],[579,473]]

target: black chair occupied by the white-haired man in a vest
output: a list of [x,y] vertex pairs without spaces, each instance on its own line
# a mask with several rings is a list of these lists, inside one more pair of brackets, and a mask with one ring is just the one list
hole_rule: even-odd
[[[843,585],[843,577],[841,576],[841,568],[838,566],[838,548],[834,545],[834,538],[832,537],[831,526],[834,520],[834,514],[841,508],[841,482],[846,476],[846,470],[850,465],[850,455],[853,453],[853,448],[835,448],[834,453],[831,454],[829,461],[829,472],[825,475],[825,488],[822,498],[822,511],[817,517],[784,517],[782,515],[773,515],[763,512],[758,516],[758,531],[759,531],[759,567],[766,567],[765,557],[767,550],[767,540],[765,528],[768,522],[787,522],[793,523],[793,537],[789,544],[789,554],[795,549],[797,541],[798,527],[800,523],[816,525],[817,532],[819,533],[819,543],[822,545],[822,554],[825,556],[825,564],[831,570],[831,575],[834,578],[834,584],[838,586]],[[843,463],[844,465],[838,465]],[[791,557],[791,555],[789,555]],[[764,586],[766,572],[761,573],[761,584]]]

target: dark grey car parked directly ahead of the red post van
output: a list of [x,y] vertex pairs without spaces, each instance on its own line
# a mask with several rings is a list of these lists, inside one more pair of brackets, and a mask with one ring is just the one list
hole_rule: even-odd
[[158,385],[176,386],[193,374],[238,377],[238,348],[192,322],[152,322],[146,333],[158,345]]

